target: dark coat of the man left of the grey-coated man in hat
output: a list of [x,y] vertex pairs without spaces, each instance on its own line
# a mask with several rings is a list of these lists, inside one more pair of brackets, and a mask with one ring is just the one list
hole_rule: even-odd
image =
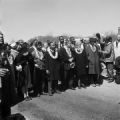
[[75,58],[75,72],[77,76],[86,75],[87,74],[86,66],[88,65],[88,59],[85,49],[80,54],[74,51],[74,58]]

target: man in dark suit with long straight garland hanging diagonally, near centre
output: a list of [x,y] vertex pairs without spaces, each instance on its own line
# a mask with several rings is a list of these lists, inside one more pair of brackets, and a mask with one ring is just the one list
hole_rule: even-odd
[[70,49],[70,42],[67,39],[64,40],[64,47],[60,49],[60,60],[64,66],[64,79],[62,80],[62,89],[74,89],[74,57]]

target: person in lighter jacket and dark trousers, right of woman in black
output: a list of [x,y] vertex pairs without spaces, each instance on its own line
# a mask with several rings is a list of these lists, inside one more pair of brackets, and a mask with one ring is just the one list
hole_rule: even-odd
[[45,63],[44,63],[44,52],[42,50],[42,43],[37,41],[32,46],[33,51],[31,52],[34,57],[34,95],[40,97],[44,92],[45,87]]

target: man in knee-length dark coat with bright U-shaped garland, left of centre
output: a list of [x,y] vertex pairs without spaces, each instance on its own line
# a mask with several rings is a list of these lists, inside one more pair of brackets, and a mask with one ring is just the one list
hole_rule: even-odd
[[55,42],[50,43],[45,54],[46,73],[48,75],[48,93],[51,96],[52,92],[60,93],[58,90],[59,77],[59,59],[58,50],[55,47]]

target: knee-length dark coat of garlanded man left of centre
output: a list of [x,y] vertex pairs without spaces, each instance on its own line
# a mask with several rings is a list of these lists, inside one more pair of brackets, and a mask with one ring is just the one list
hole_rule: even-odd
[[49,79],[50,80],[60,80],[59,69],[60,62],[58,59],[53,59],[48,52],[45,53],[45,68],[49,70]]

